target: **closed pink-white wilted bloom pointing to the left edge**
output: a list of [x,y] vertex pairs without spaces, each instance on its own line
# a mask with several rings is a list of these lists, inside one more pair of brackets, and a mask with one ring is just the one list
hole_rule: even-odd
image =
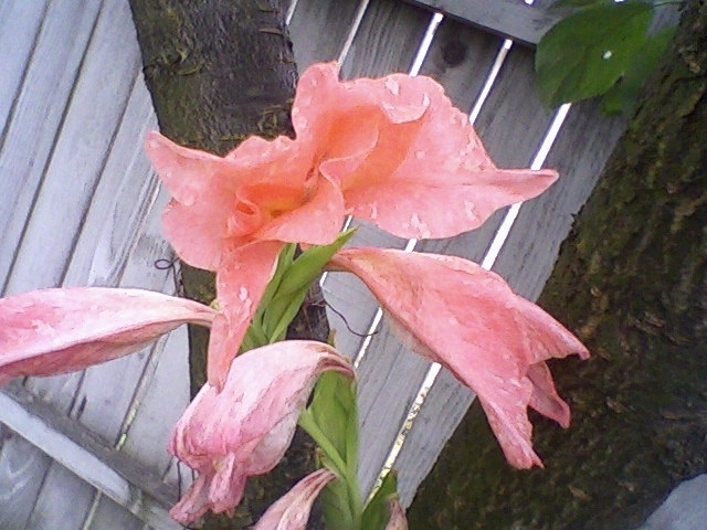
[[0,385],[109,361],[182,324],[210,326],[214,316],[196,301],[140,289],[42,289],[2,298]]

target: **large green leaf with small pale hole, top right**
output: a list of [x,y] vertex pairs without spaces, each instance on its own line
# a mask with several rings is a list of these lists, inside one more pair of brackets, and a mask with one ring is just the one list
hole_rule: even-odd
[[643,47],[653,4],[590,6],[555,24],[536,51],[537,85],[550,107],[605,93]]

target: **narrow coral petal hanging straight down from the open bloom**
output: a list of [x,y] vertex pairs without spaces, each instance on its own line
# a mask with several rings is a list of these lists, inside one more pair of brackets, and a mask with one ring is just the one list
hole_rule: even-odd
[[219,267],[217,293],[221,312],[211,328],[208,363],[209,382],[219,389],[275,272],[282,247],[283,243],[277,241],[250,243],[231,252]]

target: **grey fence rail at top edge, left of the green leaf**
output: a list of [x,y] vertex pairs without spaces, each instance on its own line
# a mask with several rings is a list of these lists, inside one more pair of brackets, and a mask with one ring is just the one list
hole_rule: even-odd
[[524,44],[537,44],[563,14],[521,0],[405,0]]

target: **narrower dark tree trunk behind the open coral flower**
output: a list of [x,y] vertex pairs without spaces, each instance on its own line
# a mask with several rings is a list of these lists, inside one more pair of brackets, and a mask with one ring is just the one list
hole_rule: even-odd
[[[223,155],[250,135],[292,135],[289,109],[297,71],[278,0],[130,0],[161,132],[172,140]],[[210,304],[213,274],[181,264],[187,297]],[[318,292],[292,330],[326,340]],[[205,382],[208,331],[191,327],[192,395]],[[247,528],[276,498],[314,470],[314,445],[297,433],[283,463],[249,480],[235,517],[207,518],[203,528]]]

